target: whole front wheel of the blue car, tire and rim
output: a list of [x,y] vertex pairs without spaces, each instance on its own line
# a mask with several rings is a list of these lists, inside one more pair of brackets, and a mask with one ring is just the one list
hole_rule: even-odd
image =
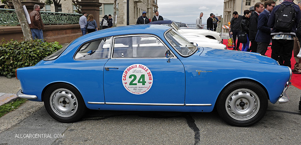
[[251,126],[257,123],[265,115],[267,106],[266,92],[252,81],[229,84],[216,101],[219,116],[233,126]]

